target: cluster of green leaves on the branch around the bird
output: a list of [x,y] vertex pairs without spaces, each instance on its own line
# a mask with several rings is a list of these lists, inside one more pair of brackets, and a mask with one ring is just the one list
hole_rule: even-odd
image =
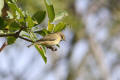
[[[14,44],[18,38],[28,42],[38,40],[36,34],[45,36],[50,33],[59,32],[65,29],[66,24],[62,22],[66,12],[55,15],[51,0],[44,0],[46,10],[39,10],[33,15],[23,11],[17,5],[17,0],[0,1],[0,37],[6,37],[8,45]],[[48,27],[42,30],[35,30],[48,15]],[[36,50],[47,62],[46,46],[35,45]]]

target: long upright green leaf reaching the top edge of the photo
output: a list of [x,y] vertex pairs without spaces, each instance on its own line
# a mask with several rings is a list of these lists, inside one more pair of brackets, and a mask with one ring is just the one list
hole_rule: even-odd
[[45,5],[46,5],[49,21],[52,22],[55,18],[55,12],[54,12],[53,4],[52,4],[51,0],[44,0],[44,2],[45,2]]

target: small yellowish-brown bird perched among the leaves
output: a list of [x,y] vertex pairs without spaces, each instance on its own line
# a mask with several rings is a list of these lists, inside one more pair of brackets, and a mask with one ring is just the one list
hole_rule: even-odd
[[60,41],[65,40],[65,36],[62,32],[56,32],[52,34],[48,34],[41,38],[40,40],[37,40],[33,44],[29,45],[28,47],[32,45],[45,45],[45,46],[54,46],[59,44]]

